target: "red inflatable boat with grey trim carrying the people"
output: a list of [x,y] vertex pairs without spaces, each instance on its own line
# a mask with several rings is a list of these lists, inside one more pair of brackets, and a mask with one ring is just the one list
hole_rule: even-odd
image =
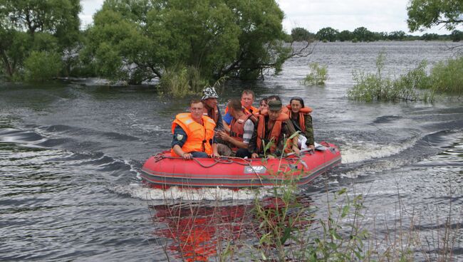
[[173,186],[240,189],[275,186],[287,179],[307,184],[340,163],[340,152],[335,145],[321,145],[322,148],[304,152],[301,157],[269,160],[236,157],[184,160],[171,157],[170,152],[161,152],[147,159],[141,177],[150,187],[162,189]]

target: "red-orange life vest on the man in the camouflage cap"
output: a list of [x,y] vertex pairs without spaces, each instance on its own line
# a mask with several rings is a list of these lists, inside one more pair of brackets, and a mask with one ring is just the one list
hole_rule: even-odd
[[[273,154],[276,151],[276,147],[279,143],[279,138],[281,135],[281,126],[283,125],[283,122],[288,120],[289,117],[285,113],[281,112],[279,117],[275,120],[274,126],[271,127],[270,133],[266,134],[266,122],[265,122],[265,117],[266,115],[269,115],[267,110],[262,110],[261,114],[259,115],[259,123],[257,124],[257,149],[259,152],[263,150],[262,148],[262,141],[267,137],[269,137],[269,141],[273,140],[273,145],[270,147],[270,153]],[[288,140],[289,141],[289,140]],[[285,152],[288,152],[288,147],[286,146]]]

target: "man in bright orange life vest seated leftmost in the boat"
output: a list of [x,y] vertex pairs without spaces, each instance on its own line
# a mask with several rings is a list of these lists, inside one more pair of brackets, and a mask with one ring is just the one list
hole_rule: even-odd
[[219,157],[214,141],[215,122],[203,112],[202,101],[194,99],[189,104],[189,112],[175,117],[172,122],[172,157]]

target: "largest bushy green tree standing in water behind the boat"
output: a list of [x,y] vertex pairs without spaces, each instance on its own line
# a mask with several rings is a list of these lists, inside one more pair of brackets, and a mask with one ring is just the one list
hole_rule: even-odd
[[98,75],[129,83],[182,66],[207,80],[255,79],[301,54],[284,45],[274,0],[106,0],[94,20],[83,54]]

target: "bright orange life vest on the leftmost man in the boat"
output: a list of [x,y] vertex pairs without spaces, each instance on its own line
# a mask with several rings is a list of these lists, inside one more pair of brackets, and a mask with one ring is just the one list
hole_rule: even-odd
[[[178,114],[172,122],[172,134],[174,134],[175,127],[179,125],[184,132],[187,133],[187,141],[182,146],[183,152],[206,152],[212,154],[212,145],[209,140],[214,137],[215,122],[212,118],[203,115],[203,125],[194,121],[189,112]],[[174,150],[170,150],[172,157],[180,157],[175,154]]]

